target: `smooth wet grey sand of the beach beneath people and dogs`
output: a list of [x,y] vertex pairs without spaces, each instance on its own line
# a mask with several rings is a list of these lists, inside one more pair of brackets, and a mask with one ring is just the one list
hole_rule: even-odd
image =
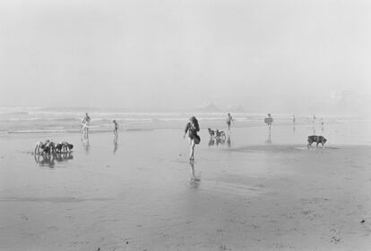
[[[369,250],[368,138],[308,130],[203,129],[193,164],[181,130],[2,138],[0,250]],[[36,163],[42,138],[73,154]]]

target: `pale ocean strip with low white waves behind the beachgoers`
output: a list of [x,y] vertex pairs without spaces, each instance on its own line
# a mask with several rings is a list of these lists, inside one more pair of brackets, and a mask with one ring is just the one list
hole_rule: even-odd
[[[191,115],[198,118],[202,130],[226,130],[227,127],[227,113],[131,113],[101,108],[0,107],[0,137],[24,133],[81,133],[85,113],[91,116],[91,133],[113,130],[113,120],[118,122],[120,131],[184,130]],[[232,113],[232,116],[235,121],[232,128],[266,128],[263,122],[267,117],[266,113]],[[309,134],[324,133],[324,129],[332,129],[327,130],[327,133],[332,132],[339,142],[341,137],[347,137],[352,142],[371,140],[369,118],[321,114],[315,116],[314,120],[313,114],[296,114],[294,124],[292,114],[272,113],[272,128],[285,126],[290,131],[295,130],[295,127],[302,127],[305,130],[302,130],[301,138]]]

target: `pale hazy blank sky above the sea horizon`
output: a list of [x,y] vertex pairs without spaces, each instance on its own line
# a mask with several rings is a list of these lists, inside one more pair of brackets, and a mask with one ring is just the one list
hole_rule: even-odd
[[289,112],[370,82],[371,1],[0,2],[0,106]]

